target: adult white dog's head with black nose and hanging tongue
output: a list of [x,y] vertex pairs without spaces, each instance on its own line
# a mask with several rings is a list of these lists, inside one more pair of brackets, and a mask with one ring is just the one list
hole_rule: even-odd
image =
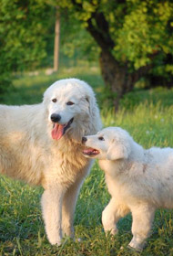
[[99,120],[95,95],[82,80],[56,81],[46,90],[44,105],[55,140],[68,133],[81,141],[85,133],[91,134],[92,130],[98,130],[94,128],[95,119]]

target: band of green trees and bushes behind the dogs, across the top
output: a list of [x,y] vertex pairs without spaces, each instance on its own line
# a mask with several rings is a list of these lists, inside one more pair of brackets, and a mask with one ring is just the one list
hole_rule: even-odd
[[149,88],[173,85],[171,0],[0,0],[0,5],[1,91],[14,72],[52,65],[56,9],[61,57],[73,59],[70,66],[78,59],[99,62],[116,109],[139,80]]

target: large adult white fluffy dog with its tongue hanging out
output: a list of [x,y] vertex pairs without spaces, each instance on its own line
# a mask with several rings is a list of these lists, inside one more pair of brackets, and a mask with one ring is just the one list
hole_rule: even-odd
[[94,92],[82,80],[58,80],[36,105],[0,106],[0,173],[45,188],[43,218],[51,244],[73,237],[76,198],[92,161],[81,138],[101,126]]

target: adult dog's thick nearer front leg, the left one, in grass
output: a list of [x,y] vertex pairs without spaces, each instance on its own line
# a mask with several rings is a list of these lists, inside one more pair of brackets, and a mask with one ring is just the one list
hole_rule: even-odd
[[47,239],[51,244],[60,245],[62,240],[62,201],[64,191],[61,187],[45,190],[41,204],[43,219],[46,225]]

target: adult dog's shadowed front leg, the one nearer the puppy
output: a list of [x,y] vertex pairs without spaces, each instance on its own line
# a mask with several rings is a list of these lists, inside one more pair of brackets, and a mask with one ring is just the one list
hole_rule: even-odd
[[76,208],[76,200],[83,183],[84,176],[80,176],[76,182],[71,185],[67,190],[65,197],[63,198],[62,208],[62,229],[66,236],[74,238],[74,214]]

